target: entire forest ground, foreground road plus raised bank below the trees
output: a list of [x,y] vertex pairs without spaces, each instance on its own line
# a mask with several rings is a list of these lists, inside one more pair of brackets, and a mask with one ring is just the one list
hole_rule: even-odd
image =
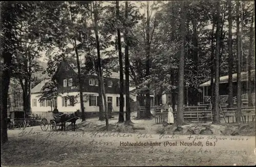
[[[39,126],[8,130],[2,145],[2,166],[123,166],[123,165],[253,165],[255,122],[242,125],[156,125],[135,120],[131,126],[110,120],[88,119],[77,131],[41,131]],[[254,132],[254,135],[253,135]],[[224,136],[225,135],[225,136]],[[180,142],[202,146],[181,146]],[[127,142],[161,143],[160,146],[124,146]],[[175,145],[177,142],[178,146]],[[206,146],[208,144],[208,146]],[[212,146],[210,146],[212,145]]]

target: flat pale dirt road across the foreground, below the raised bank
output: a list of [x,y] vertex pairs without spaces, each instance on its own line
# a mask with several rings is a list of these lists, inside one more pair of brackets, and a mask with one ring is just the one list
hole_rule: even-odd
[[[2,166],[253,165],[255,137],[9,130]],[[190,137],[190,138],[189,138]],[[193,137],[193,138],[192,138]],[[200,138],[199,138],[200,137]],[[230,140],[230,139],[233,140]],[[181,142],[202,146],[180,146]],[[121,146],[120,146],[121,142]],[[160,146],[124,146],[127,142]],[[146,143],[147,142],[147,143]],[[174,143],[178,146],[169,146]],[[206,146],[212,144],[215,146]],[[168,144],[168,146],[164,146]]]

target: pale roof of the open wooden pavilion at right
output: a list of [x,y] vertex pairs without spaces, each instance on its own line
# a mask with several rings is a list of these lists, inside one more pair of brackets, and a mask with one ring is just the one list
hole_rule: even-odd
[[[215,79],[214,79],[215,80]],[[248,80],[248,73],[241,72],[241,80],[247,81]],[[251,80],[255,80],[255,70],[251,70]],[[237,82],[237,73],[232,74],[232,82]],[[220,84],[228,83],[228,75],[220,77]],[[199,87],[206,87],[210,86],[210,80],[204,82]]]

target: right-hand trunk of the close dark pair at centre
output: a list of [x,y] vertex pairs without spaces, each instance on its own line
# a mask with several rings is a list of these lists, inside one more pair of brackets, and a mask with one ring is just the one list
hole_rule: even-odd
[[[125,20],[128,21],[128,2],[125,1]],[[125,124],[129,124],[131,122],[131,107],[130,107],[130,71],[129,71],[129,41],[128,41],[128,31],[127,31],[127,25],[125,26],[125,32],[124,32],[124,41],[125,41],[125,47],[124,47],[124,60],[125,60]],[[120,49],[121,51],[121,49]]]

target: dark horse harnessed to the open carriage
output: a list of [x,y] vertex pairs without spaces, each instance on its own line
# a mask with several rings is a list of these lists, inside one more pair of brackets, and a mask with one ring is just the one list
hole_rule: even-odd
[[71,122],[72,130],[75,131],[76,120],[78,120],[79,118],[81,118],[81,113],[79,109],[77,109],[76,112],[72,114],[62,114],[60,116],[61,130],[63,130],[63,127],[64,127],[64,131],[65,131],[66,122]]

